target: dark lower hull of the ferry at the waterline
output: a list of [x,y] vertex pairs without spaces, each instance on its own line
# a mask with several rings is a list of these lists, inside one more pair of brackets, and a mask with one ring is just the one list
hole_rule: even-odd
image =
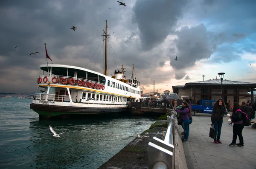
[[62,117],[70,118],[72,115],[104,115],[127,112],[127,107],[99,108],[99,107],[71,107],[44,104],[30,104],[30,108],[42,118]]

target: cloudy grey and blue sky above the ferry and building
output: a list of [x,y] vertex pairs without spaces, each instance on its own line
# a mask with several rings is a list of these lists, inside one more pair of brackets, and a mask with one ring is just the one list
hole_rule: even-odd
[[[46,63],[44,43],[49,64],[104,73],[105,20],[108,75],[124,64],[131,76],[134,64],[144,93],[153,91],[153,80],[160,92],[172,92],[173,85],[219,72],[227,80],[256,82],[255,0],[122,2],[126,6],[116,0],[2,0],[0,92],[35,92],[39,65]],[[40,54],[29,55],[35,51]]]

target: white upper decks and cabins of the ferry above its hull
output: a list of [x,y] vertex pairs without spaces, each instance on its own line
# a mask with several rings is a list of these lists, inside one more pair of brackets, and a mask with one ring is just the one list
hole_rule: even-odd
[[64,103],[81,103],[76,106],[93,107],[98,104],[99,107],[101,104],[127,107],[127,101],[140,101],[143,96],[140,82],[128,82],[120,72],[111,78],[76,66],[52,64],[48,68],[47,65],[40,65],[40,69],[38,90],[34,98],[38,104],[70,106]]

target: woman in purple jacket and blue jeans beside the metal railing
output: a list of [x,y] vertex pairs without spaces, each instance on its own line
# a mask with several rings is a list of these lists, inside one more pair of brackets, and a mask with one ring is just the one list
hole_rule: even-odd
[[182,141],[187,141],[189,138],[189,114],[191,114],[191,109],[189,104],[186,101],[182,102],[181,109],[176,109],[177,113],[180,113],[180,119],[182,122],[182,126],[184,127],[184,138]]

